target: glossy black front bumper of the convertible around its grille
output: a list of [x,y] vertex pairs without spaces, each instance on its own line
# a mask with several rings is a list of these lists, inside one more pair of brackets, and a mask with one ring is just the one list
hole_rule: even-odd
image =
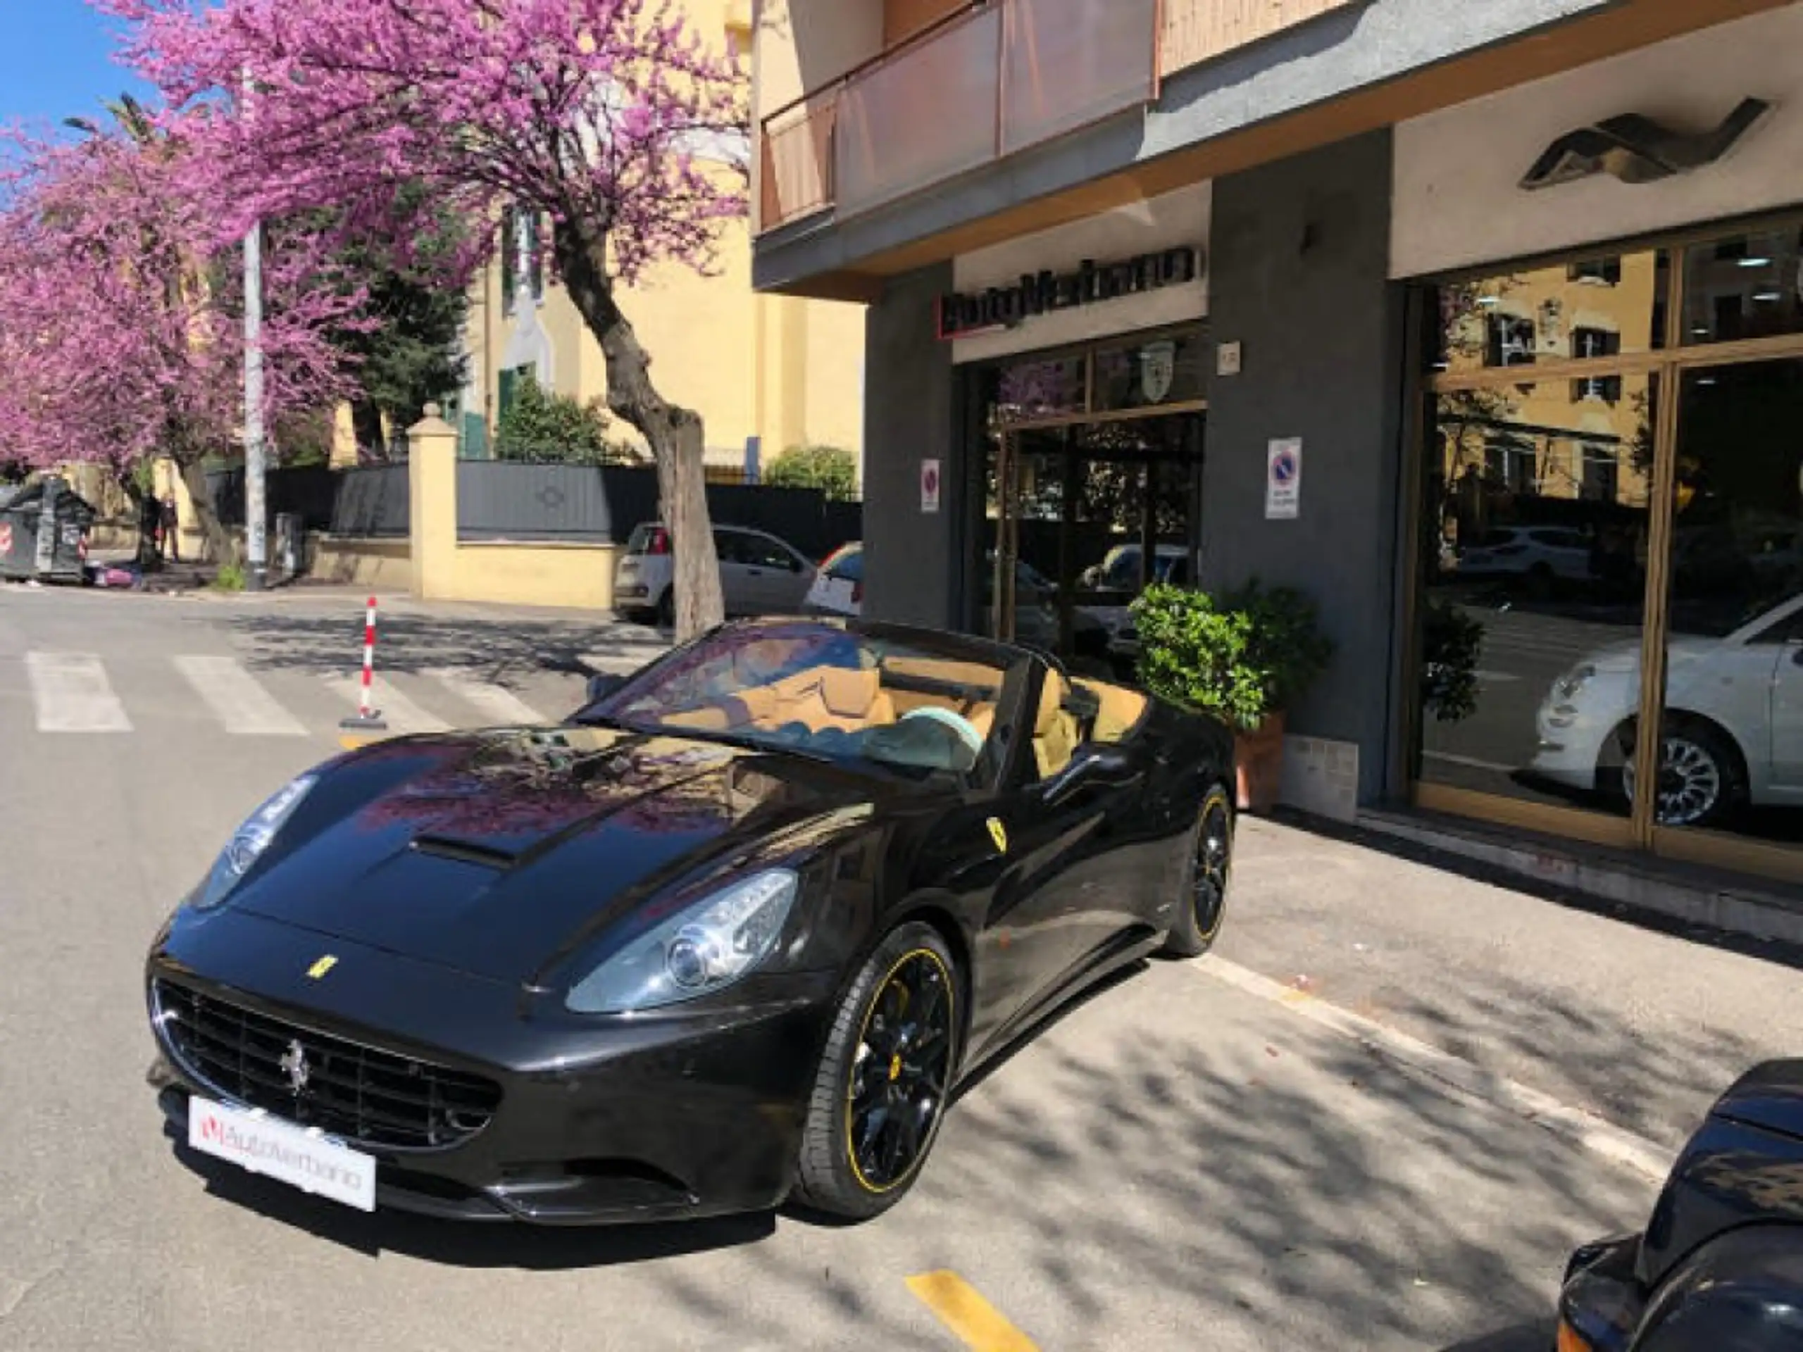
[[[303,973],[319,937],[231,919],[254,930],[249,981],[238,972],[224,981],[216,966],[207,972],[166,950],[151,954],[148,977],[501,1085],[494,1116],[458,1145],[346,1141],[377,1161],[377,1206],[570,1226],[759,1211],[788,1195],[828,1028],[829,977],[784,977],[781,988],[766,981],[761,991],[746,981],[730,1008],[584,1020],[561,1008],[525,1011],[519,990],[503,982],[334,943],[334,975],[357,972],[359,981],[335,990],[321,981],[301,1000],[267,973]],[[292,959],[270,963],[287,945]],[[151,1083],[186,1141],[189,1096],[236,1100],[186,1064],[155,1019],[153,1037]],[[279,1105],[261,1107],[285,1116]]]

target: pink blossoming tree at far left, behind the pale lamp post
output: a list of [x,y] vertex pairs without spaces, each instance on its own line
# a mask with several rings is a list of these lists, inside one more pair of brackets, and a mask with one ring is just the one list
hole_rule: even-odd
[[[0,171],[0,447],[29,469],[133,470],[169,456],[211,557],[225,534],[204,460],[243,415],[242,274],[233,243],[186,191],[184,137],[11,141]],[[332,285],[325,242],[270,231],[265,416],[330,407],[348,382],[326,341],[361,296]]]

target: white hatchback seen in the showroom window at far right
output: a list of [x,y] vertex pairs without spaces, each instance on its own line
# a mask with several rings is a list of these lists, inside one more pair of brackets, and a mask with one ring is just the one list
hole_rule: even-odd
[[[1621,741],[1641,701],[1641,645],[1612,644],[1560,676],[1540,705],[1534,772],[1579,790],[1634,797]],[[1680,635],[1666,649],[1659,822],[1706,826],[1736,804],[1803,808],[1803,595],[1722,638]]]

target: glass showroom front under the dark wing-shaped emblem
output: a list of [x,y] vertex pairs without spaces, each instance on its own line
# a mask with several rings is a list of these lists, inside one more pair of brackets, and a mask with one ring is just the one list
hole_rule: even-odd
[[1397,128],[1415,804],[1803,878],[1798,50],[1783,9]]

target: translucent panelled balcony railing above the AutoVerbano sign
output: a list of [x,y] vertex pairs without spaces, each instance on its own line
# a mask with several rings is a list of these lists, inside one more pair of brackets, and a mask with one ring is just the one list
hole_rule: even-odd
[[759,229],[840,220],[1158,99],[1159,0],[979,0],[763,124]]

